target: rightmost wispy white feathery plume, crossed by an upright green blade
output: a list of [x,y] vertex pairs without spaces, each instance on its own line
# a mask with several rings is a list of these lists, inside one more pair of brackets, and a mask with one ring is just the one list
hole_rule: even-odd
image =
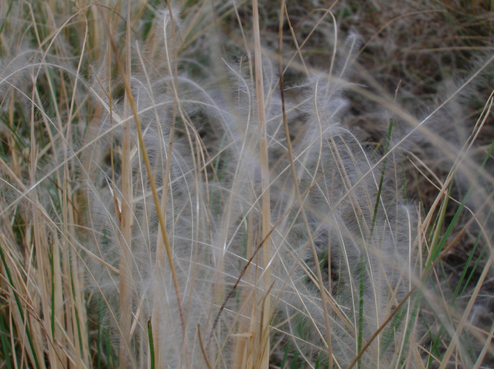
[[[410,291],[418,245],[416,210],[406,206],[396,193],[401,187],[394,175],[396,162],[385,159],[376,165],[376,153],[339,124],[345,113],[341,104],[312,105],[334,95],[331,84],[318,79],[309,86],[307,93],[312,98],[307,100],[311,105],[304,110],[314,113],[307,114],[303,139],[300,146],[294,146],[294,157],[300,163],[299,185],[301,191],[308,192],[304,207],[311,234],[293,221],[291,231],[298,239],[291,244],[302,248],[291,256],[300,258],[293,278],[296,294],[292,292],[292,304],[298,306],[302,318],[295,317],[289,325],[294,336],[298,331],[311,332],[301,338],[325,351],[321,294],[315,293],[318,281],[314,262],[319,262],[325,276],[324,298],[331,306],[332,354],[337,365],[346,367]],[[316,245],[317,261],[307,253],[309,237]],[[369,346],[362,365],[388,367],[406,358],[408,352],[403,350],[408,350],[406,341],[411,335],[407,329],[413,329],[415,315],[412,303],[401,319]],[[318,329],[309,330],[307,324]],[[405,346],[394,347],[394,343]]]

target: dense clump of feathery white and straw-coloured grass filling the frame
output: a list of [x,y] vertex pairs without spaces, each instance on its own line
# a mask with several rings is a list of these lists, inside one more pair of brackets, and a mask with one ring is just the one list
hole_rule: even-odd
[[[435,129],[489,63],[417,119],[355,63],[368,45],[341,42],[345,7],[279,5],[2,8],[6,366],[488,360],[491,146],[474,145],[492,100],[466,143]],[[304,51],[321,40],[322,71]],[[359,101],[379,128],[351,124]],[[454,285],[466,234],[483,251]]]

